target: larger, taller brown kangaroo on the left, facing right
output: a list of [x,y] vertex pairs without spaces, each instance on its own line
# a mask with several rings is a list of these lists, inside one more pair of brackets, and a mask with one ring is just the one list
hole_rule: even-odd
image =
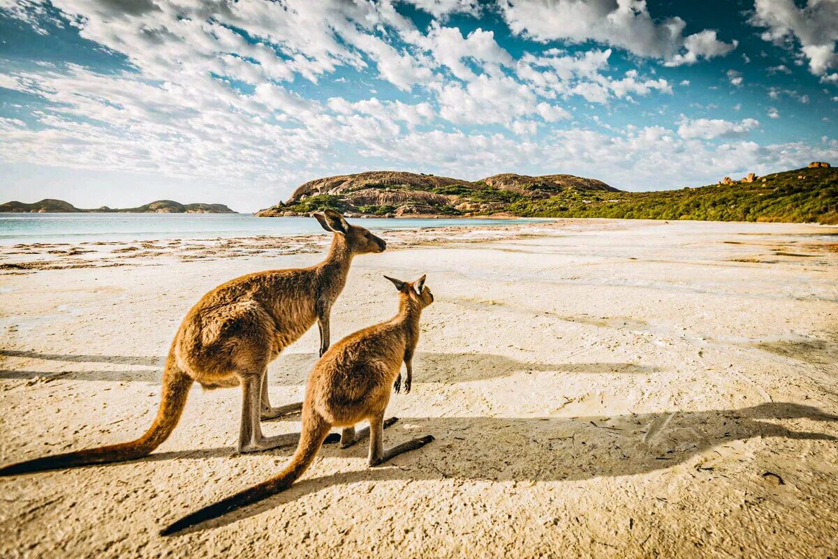
[[70,468],[138,459],[150,454],[172,433],[193,382],[204,388],[241,385],[240,452],[294,444],[296,434],[265,437],[260,419],[298,412],[302,403],[272,408],[267,393],[267,366],[318,321],[320,355],[329,345],[328,318],[344,289],[355,254],[380,253],[385,242],[339,213],[314,217],[334,233],[323,262],[310,268],[278,269],[244,275],[210,291],[187,313],[168,351],[157,418],[142,437],[12,464],[0,475]]

